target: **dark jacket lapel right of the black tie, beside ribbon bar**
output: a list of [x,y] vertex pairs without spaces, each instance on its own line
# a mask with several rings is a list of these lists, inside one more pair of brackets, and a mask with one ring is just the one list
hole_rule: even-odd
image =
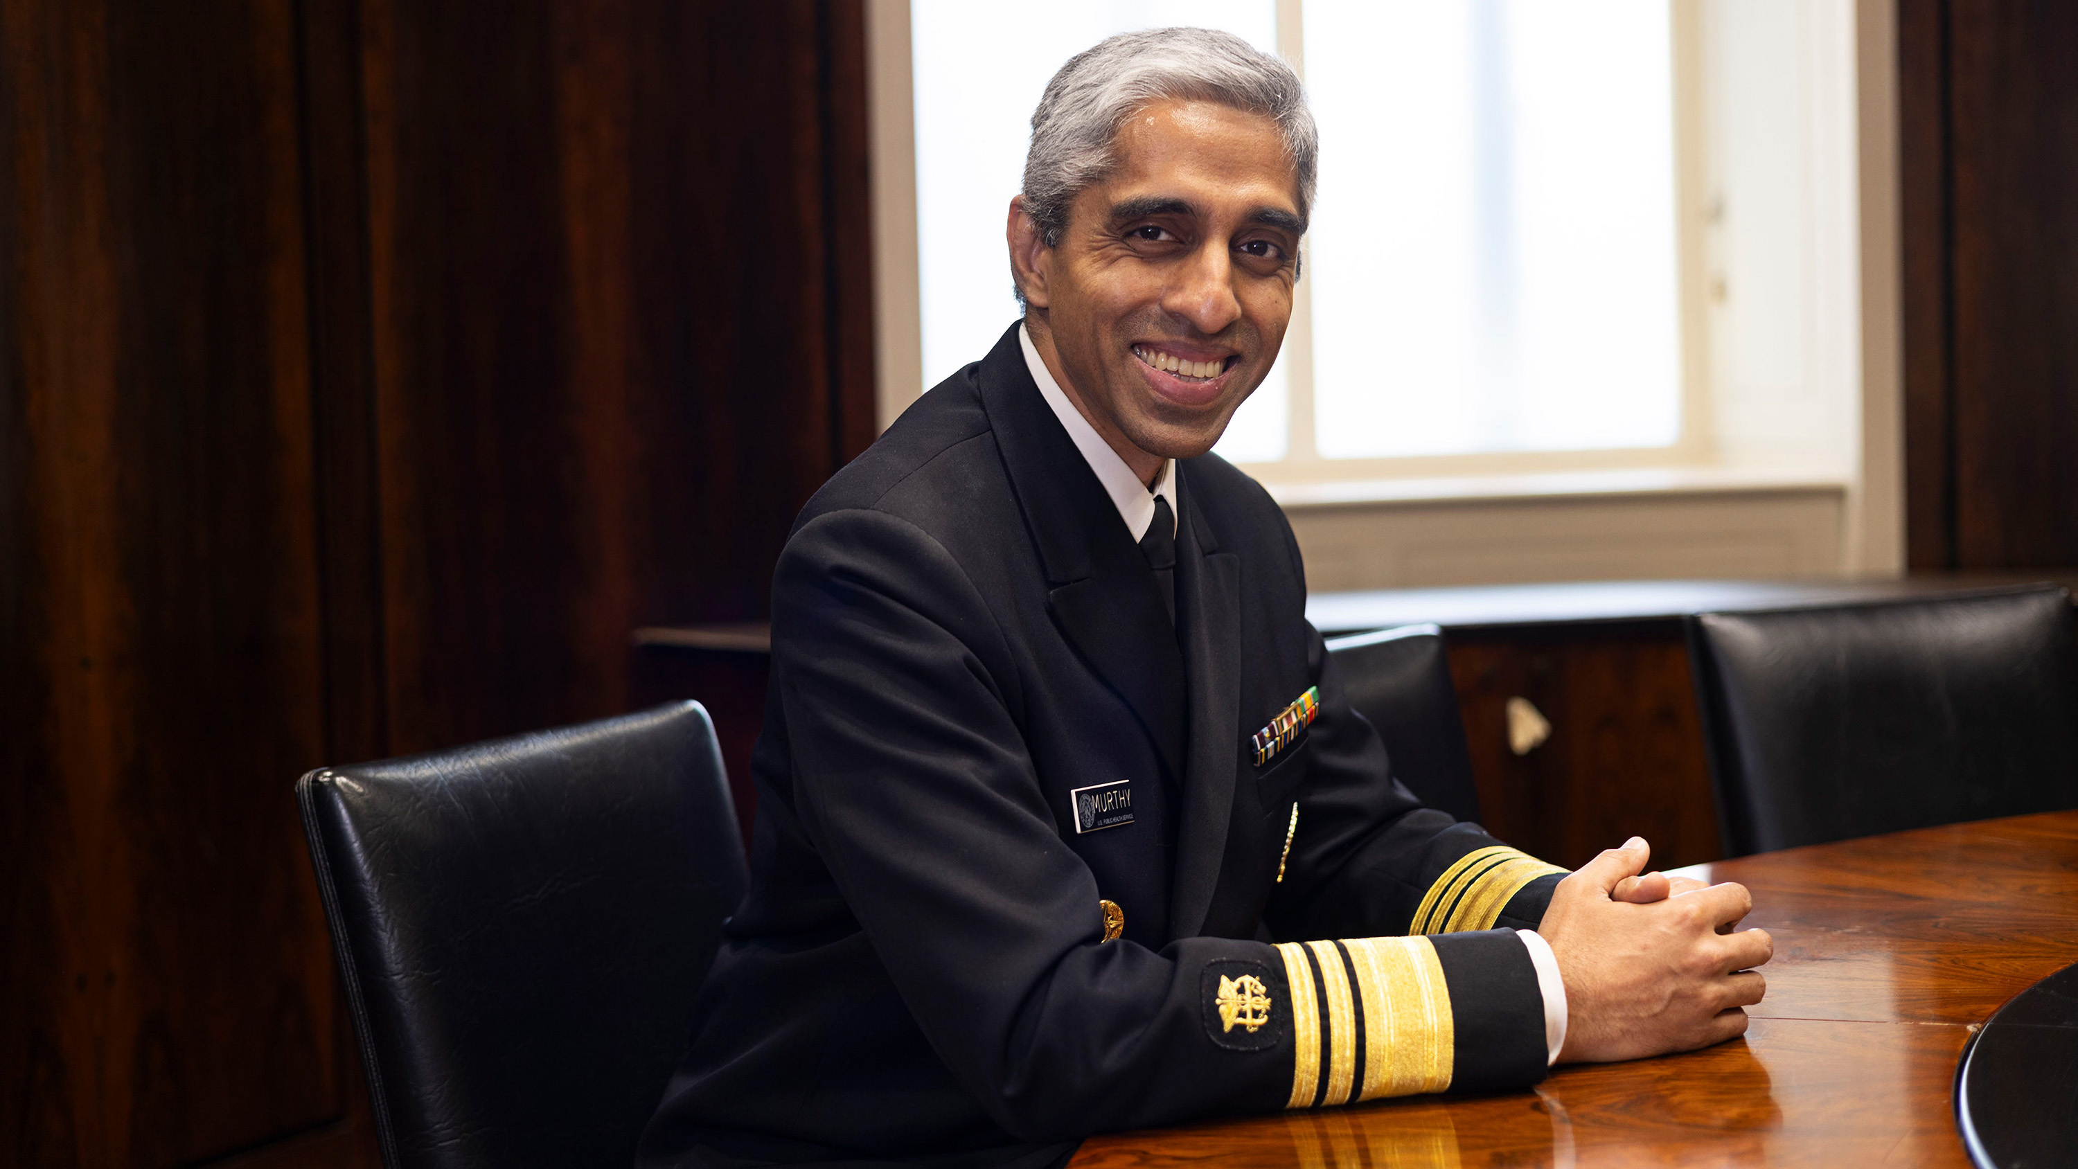
[[[1182,831],[1170,893],[1170,936],[1205,926],[1226,855],[1234,810],[1234,762],[1241,718],[1241,556],[1220,552],[1191,492],[1189,463],[1176,488],[1184,521],[1176,532],[1176,623],[1189,679],[1189,737]],[[1157,598],[1160,604],[1160,598]]]

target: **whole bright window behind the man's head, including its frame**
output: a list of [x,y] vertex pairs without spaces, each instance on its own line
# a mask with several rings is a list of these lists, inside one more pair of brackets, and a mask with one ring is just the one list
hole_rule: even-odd
[[1847,473],[1847,0],[912,0],[918,388],[1016,311],[1004,214],[1047,77],[1168,23],[1282,52],[1322,127],[1293,328],[1218,446],[1274,490]]

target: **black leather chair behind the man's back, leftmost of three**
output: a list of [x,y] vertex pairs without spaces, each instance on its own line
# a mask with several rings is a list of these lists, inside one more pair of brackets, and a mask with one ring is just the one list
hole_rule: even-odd
[[748,885],[707,710],[295,793],[389,1169],[632,1165]]

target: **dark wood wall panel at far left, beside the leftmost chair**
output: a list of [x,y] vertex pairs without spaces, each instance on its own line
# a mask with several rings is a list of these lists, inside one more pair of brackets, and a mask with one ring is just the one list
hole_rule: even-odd
[[0,93],[0,1157],[183,1165],[339,1111],[295,29],[15,2]]

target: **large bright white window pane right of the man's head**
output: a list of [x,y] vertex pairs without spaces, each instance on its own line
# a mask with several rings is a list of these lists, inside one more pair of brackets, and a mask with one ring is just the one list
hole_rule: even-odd
[[1667,0],[1309,4],[1305,77],[1313,451],[1679,438]]

